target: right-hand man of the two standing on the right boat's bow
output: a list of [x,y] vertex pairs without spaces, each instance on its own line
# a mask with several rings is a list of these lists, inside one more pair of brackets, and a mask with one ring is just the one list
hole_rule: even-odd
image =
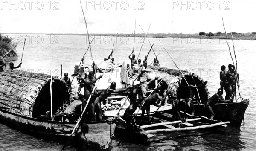
[[234,99],[236,92],[236,82],[237,86],[240,87],[239,84],[239,74],[235,71],[235,67],[231,65],[230,70],[227,72],[227,82],[228,82],[228,90],[229,96],[226,95],[225,99]]

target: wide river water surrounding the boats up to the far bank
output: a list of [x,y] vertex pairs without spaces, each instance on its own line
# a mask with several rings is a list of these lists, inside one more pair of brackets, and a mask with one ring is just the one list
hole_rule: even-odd
[[[24,35],[10,35],[14,40],[23,39]],[[154,43],[154,51],[158,55],[161,67],[176,69],[169,55],[161,46],[158,38],[149,38]],[[221,65],[227,67],[232,64],[230,52],[224,40],[207,39],[179,39],[160,38],[173,60],[181,70],[197,73],[204,80],[208,80],[210,95],[216,93],[219,87],[219,72]],[[113,57],[115,62],[129,63],[128,55],[133,49],[133,38],[128,37],[95,37],[92,43],[92,55],[96,62],[107,58],[115,41]],[[136,38],[134,54],[140,51],[143,38]],[[232,41],[230,43],[233,53]],[[123,142],[113,151],[123,150],[256,150],[256,41],[235,40],[237,70],[240,78],[241,96],[250,99],[244,121],[240,128],[227,128],[225,131],[209,133],[204,131],[190,131],[186,133],[157,134],[161,140],[147,145]],[[22,70],[41,72],[61,76],[71,75],[75,64],[79,64],[81,57],[88,47],[87,36],[75,35],[28,35],[23,54]],[[19,64],[23,44],[17,46]],[[147,55],[150,44],[145,40],[139,58]],[[154,58],[151,52],[148,64]],[[235,58],[233,56],[235,61]],[[88,52],[85,61],[91,61]],[[9,64],[7,64],[9,66]],[[7,66],[7,67],[8,67]],[[34,136],[15,131],[6,125],[0,124],[0,150],[60,150],[61,144],[38,139]],[[69,148],[69,150],[75,150]]]

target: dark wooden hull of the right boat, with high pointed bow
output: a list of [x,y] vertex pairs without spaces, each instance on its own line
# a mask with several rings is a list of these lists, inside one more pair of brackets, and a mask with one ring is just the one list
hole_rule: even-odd
[[[240,127],[244,118],[244,113],[249,105],[249,100],[235,103],[220,103],[212,106],[215,113],[214,119],[220,121],[230,121],[230,125]],[[204,109],[204,105],[195,105],[195,115],[209,117],[209,112]]]

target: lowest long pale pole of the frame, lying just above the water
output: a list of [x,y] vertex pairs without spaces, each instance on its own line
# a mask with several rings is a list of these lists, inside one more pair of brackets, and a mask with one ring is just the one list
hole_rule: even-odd
[[172,132],[172,131],[187,131],[187,130],[197,130],[201,128],[212,128],[219,125],[229,124],[230,122],[219,122],[215,124],[210,125],[201,125],[201,126],[193,126],[193,127],[187,127],[187,128],[166,128],[166,129],[157,129],[157,130],[147,130],[147,131],[141,131],[140,134],[151,134],[151,133],[160,133],[160,132]]

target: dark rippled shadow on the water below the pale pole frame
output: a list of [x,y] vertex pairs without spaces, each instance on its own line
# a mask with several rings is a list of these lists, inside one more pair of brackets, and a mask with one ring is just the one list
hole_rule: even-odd
[[227,127],[219,131],[183,131],[175,133],[155,134],[155,140],[145,144],[131,144],[124,141],[120,146],[113,148],[113,151],[133,150],[239,150],[244,148],[244,142],[240,138],[240,128]]

